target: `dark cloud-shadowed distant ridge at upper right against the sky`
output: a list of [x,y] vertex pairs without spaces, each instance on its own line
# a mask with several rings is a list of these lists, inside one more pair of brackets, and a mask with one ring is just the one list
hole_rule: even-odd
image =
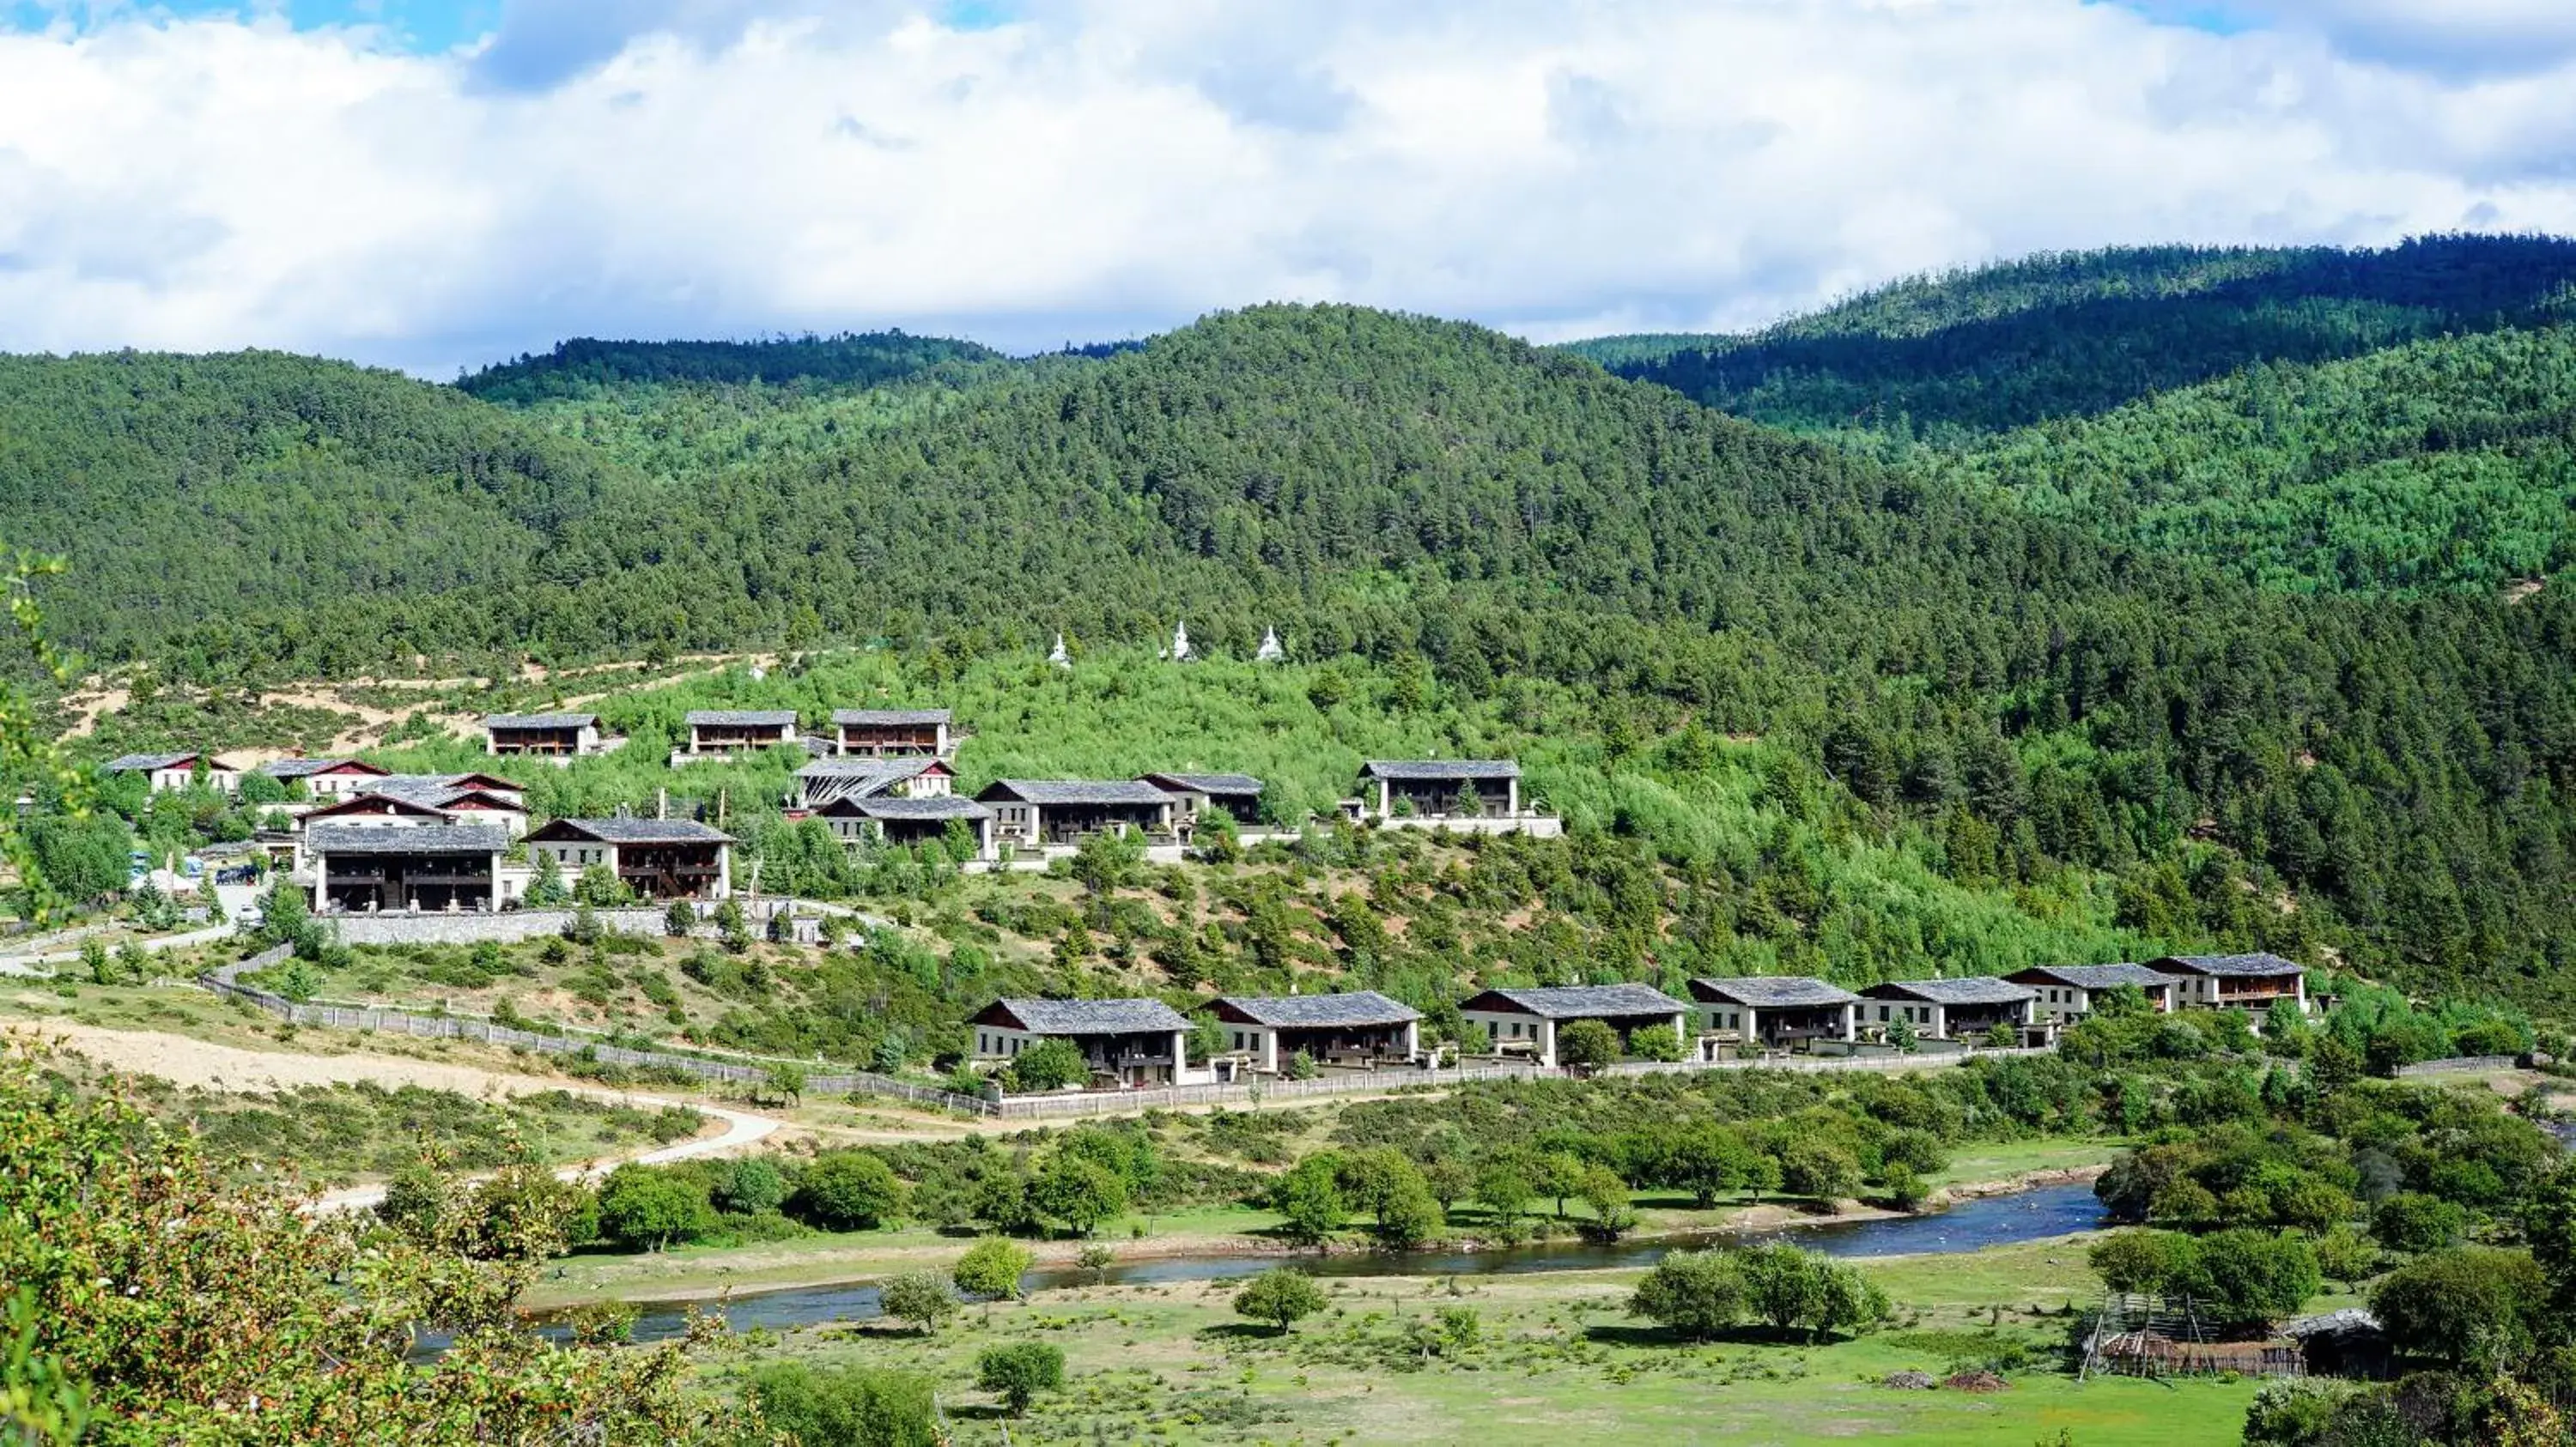
[[1958,445],[2228,376],[2576,317],[2576,242],[2123,247],[1901,281],[1726,335],[1574,342],[1620,376],[1806,433]]

